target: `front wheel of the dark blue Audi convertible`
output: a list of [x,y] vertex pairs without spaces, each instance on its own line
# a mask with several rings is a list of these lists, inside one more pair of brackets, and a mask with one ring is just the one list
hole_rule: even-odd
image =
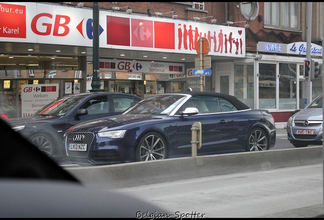
[[164,137],[156,132],[146,133],[135,151],[135,161],[148,161],[167,158],[167,144]]

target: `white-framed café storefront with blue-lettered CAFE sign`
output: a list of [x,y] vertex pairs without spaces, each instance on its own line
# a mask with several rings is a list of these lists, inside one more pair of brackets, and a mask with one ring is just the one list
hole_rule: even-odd
[[322,47],[311,46],[318,72],[308,88],[304,77],[306,42],[258,44],[258,53],[247,53],[244,60],[213,64],[215,92],[229,91],[251,108],[268,109],[275,122],[284,125],[296,109],[311,101],[307,90],[312,98],[322,93]]

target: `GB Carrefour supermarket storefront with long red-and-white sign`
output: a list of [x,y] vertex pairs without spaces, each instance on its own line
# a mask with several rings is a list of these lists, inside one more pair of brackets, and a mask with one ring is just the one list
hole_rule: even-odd
[[[12,109],[10,117],[23,116],[22,85],[58,84],[59,97],[91,90],[91,8],[32,2],[1,7],[2,23],[12,30],[0,33],[0,99]],[[19,13],[13,13],[16,11]],[[192,75],[199,58],[195,42],[202,37],[210,39],[211,63],[218,57],[246,57],[244,28],[106,10],[100,11],[99,24],[103,91],[138,93],[141,97],[185,91],[187,87],[214,91],[214,70],[202,83],[199,76]],[[184,32],[192,35],[182,35]],[[236,39],[235,43],[230,38]],[[143,51],[158,59],[145,58]],[[229,92],[226,88],[222,91]]]

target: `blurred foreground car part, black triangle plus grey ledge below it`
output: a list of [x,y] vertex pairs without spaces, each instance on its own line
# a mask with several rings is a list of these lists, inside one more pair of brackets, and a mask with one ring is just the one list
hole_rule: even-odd
[[86,187],[2,119],[0,131],[1,218],[136,218],[139,211],[168,213],[114,190]]

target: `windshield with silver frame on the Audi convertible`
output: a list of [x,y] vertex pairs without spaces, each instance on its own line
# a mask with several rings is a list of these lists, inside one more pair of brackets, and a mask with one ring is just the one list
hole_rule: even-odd
[[169,115],[173,109],[185,98],[185,95],[150,96],[128,108],[122,115],[135,114],[163,114]]

